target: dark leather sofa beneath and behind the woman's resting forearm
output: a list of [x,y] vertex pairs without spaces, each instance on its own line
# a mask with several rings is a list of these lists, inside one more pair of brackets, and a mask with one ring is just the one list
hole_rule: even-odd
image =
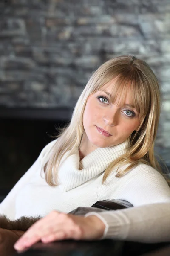
[[[78,207],[70,213],[85,215],[91,211],[101,212],[127,207],[133,207],[133,205],[124,200],[104,200],[97,201],[92,207]],[[145,253],[147,253],[147,256],[154,256],[155,251],[169,246],[170,243],[144,244],[113,239],[97,241],[65,240],[51,244],[39,242],[26,252],[20,253],[20,256],[144,256]],[[167,254],[162,253],[160,255],[167,256]]]

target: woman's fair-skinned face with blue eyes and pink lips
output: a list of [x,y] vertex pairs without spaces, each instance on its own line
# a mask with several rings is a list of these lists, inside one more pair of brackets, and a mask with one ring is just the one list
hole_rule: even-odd
[[83,114],[84,140],[93,148],[111,147],[124,142],[140,125],[139,114],[130,105],[127,95],[125,105],[111,102],[114,80],[88,97]]

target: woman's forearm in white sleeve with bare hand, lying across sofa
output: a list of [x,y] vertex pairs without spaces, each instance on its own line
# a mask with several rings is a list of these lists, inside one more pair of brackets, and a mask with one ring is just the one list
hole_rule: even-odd
[[53,211],[17,241],[23,250],[41,240],[120,239],[145,243],[170,241],[170,202],[74,216]]

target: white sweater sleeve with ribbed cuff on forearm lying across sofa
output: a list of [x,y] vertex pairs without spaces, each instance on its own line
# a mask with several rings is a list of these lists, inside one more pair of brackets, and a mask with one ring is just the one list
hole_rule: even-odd
[[119,239],[144,243],[170,241],[170,202],[147,204],[128,209],[89,212],[105,224],[102,239]]

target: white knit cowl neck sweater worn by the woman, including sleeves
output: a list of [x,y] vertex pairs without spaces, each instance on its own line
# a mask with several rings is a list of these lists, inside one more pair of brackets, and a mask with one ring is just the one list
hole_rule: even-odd
[[[106,182],[102,184],[107,166],[124,154],[127,144],[124,142],[113,147],[97,148],[81,161],[79,161],[78,149],[68,158],[65,155],[59,167],[59,185],[51,187],[46,183],[45,175],[41,172],[41,164],[55,142],[49,143],[42,150],[33,166],[0,204],[0,214],[5,214],[10,219],[17,219],[23,215],[45,216],[54,209],[68,213],[80,206],[90,207],[99,200],[123,199],[135,207],[115,212],[88,214],[97,215],[105,223],[104,237],[157,241],[158,236],[156,238],[154,236],[156,232],[149,236],[144,232],[149,222],[153,222],[154,216],[158,217],[159,221],[164,219],[162,214],[170,216],[170,189],[159,172],[140,163],[121,178],[115,177],[116,170],[113,169]],[[154,204],[145,205],[152,203]],[[167,209],[169,209],[168,213]],[[134,232],[136,227],[141,231],[138,232],[139,238]],[[158,233],[160,230],[157,235]]]

